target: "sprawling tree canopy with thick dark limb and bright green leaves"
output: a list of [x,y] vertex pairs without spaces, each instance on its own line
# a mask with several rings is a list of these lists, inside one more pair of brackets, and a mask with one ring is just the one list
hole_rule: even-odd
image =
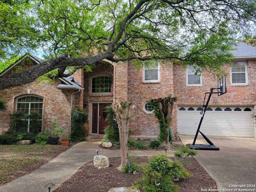
[[67,67],[68,75],[90,70],[103,59],[136,68],[158,59],[220,74],[239,37],[255,34],[255,16],[254,0],[2,0],[2,61],[37,50],[45,61],[0,76],[0,89],[54,69],[55,77]]

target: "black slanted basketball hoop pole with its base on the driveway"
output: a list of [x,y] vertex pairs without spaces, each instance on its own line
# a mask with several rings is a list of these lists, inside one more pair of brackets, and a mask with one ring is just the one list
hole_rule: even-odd
[[206,92],[206,93],[205,93],[205,97],[206,97],[206,94],[209,94],[209,96],[208,96],[208,99],[207,99],[206,104],[205,104],[205,99],[204,99],[203,109],[202,109],[202,111],[200,112],[200,114],[202,114],[202,116],[201,116],[201,119],[200,119],[200,122],[199,122],[199,125],[198,125],[198,128],[197,128],[197,131],[196,131],[196,135],[195,135],[195,138],[194,138],[194,141],[193,141],[193,146],[195,146],[196,139],[197,139],[197,135],[198,135],[198,133],[200,132],[201,135],[204,137],[204,139],[205,139],[211,146],[213,146],[213,147],[206,147],[206,146],[204,146],[204,147],[199,147],[199,148],[198,148],[198,147],[193,147],[193,146],[191,146],[191,144],[188,144],[191,148],[195,148],[195,149],[198,149],[198,150],[219,150],[219,148],[218,148],[218,147],[215,147],[214,144],[205,136],[205,134],[203,134],[203,133],[200,131],[200,127],[201,127],[202,121],[203,121],[203,119],[204,119],[205,112],[206,112],[207,106],[208,106],[208,104],[209,104],[209,101],[210,101],[210,99],[211,99],[212,93],[222,93],[222,92],[219,92],[219,91],[218,91],[218,92],[213,92],[215,89],[219,90],[219,88],[211,88],[211,91],[210,91],[210,92]]

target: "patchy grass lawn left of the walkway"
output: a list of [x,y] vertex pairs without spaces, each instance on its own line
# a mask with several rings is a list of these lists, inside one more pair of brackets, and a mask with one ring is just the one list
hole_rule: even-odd
[[69,147],[61,145],[0,145],[0,185],[31,173]]

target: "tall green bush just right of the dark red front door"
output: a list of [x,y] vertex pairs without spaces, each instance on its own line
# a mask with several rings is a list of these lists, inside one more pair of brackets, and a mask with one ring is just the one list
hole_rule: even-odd
[[111,143],[119,141],[119,130],[115,128],[115,113],[111,106],[106,106],[104,112],[107,114],[105,121],[108,125],[104,129],[104,139],[109,140]]

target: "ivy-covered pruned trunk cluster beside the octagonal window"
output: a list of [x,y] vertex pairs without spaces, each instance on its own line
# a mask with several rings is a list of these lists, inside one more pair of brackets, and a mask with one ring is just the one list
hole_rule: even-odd
[[[167,113],[168,113],[168,107],[172,102],[176,102],[177,98],[173,97],[172,94],[167,95],[167,97],[158,98],[158,99],[151,99],[150,104],[152,108],[154,109],[153,113],[155,115],[155,118],[157,118],[159,123],[159,135],[158,140],[163,142],[169,132],[166,132],[165,130],[170,126],[172,122],[172,118],[168,119]],[[162,109],[159,109],[158,102],[161,102]],[[163,115],[160,111],[163,111]],[[167,129],[168,130],[168,129]]]

